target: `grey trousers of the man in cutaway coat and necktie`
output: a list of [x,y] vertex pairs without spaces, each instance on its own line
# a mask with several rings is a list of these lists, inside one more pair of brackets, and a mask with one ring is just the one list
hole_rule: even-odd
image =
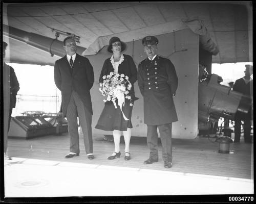
[[68,130],[70,134],[70,151],[79,154],[80,149],[77,116],[79,118],[79,124],[82,127],[83,142],[84,146],[86,147],[86,153],[93,153],[91,112],[83,105],[79,95],[75,91],[72,91],[67,109]]

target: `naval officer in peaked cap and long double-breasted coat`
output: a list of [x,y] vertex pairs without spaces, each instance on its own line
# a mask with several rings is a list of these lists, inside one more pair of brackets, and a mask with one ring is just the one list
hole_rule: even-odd
[[158,161],[159,129],[164,167],[172,167],[172,122],[178,120],[173,97],[178,86],[175,67],[169,59],[157,55],[158,39],[142,39],[148,58],[138,66],[138,85],[144,98],[144,123],[147,124],[147,146],[150,158],[144,164]]

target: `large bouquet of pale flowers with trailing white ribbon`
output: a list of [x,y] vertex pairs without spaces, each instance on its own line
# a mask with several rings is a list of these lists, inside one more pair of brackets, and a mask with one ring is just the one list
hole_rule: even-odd
[[[115,108],[117,109],[116,99],[118,99],[118,106],[122,111],[122,106],[124,106],[125,98],[130,100],[130,106],[133,106],[131,96],[129,95],[132,88],[132,84],[129,81],[129,77],[124,74],[110,72],[109,75],[103,75],[103,83],[100,83],[99,91],[106,99],[104,102],[112,101]],[[123,111],[122,111],[123,114]],[[129,120],[123,114],[125,120]]]

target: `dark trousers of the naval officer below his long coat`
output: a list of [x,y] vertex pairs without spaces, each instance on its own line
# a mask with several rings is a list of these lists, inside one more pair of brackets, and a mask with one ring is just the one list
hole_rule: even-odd
[[172,123],[147,125],[147,146],[150,149],[150,157],[158,159],[157,127],[162,143],[163,161],[172,162]]

